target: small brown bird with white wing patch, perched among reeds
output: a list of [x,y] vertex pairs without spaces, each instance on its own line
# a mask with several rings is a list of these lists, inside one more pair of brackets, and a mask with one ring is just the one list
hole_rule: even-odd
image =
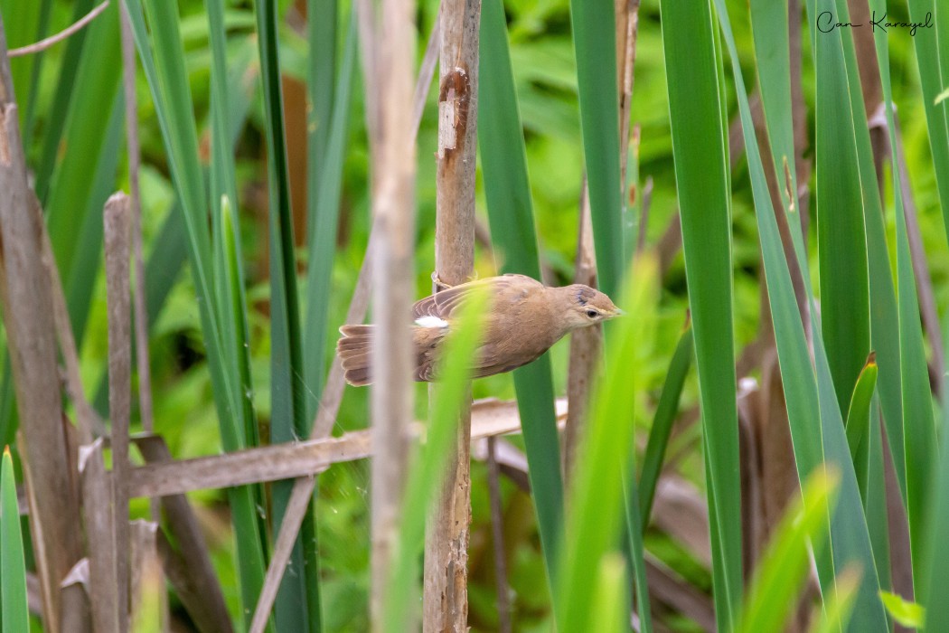
[[[438,349],[452,329],[456,309],[475,287],[490,286],[491,299],[474,363],[474,377],[493,376],[537,360],[569,331],[623,314],[603,292],[582,284],[548,288],[530,277],[506,274],[461,284],[425,297],[412,308],[415,380],[437,376]],[[336,344],[346,382],[372,382],[374,326],[342,326]]]

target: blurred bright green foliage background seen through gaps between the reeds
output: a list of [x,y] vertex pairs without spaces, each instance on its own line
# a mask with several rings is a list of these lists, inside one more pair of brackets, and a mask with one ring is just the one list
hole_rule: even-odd
[[[0,0],[8,29],[9,45],[22,46],[34,38],[36,16],[30,15],[22,0]],[[184,54],[188,69],[188,84],[193,97],[193,111],[198,124],[198,139],[201,156],[207,161],[210,155],[208,130],[211,126],[211,67],[212,50],[206,26],[204,5],[198,0],[180,0],[180,30],[184,42]],[[279,48],[284,88],[291,82],[302,82],[307,77],[307,39],[303,21],[290,2],[279,3]],[[76,5],[83,6],[82,2]],[[345,32],[348,19],[348,3],[339,9],[339,32]],[[748,22],[747,3],[730,0],[725,3],[734,20],[735,45],[738,65],[746,78],[750,90],[754,90],[755,65],[754,42]],[[71,21],[73,3],[54,1],[48,3],[49,25],[56,30]],[[436,15],[437,3],[424,0],[419,5],[419,59],[426,36]],[[894,20],[906,19],[907,9],[900,5],[889,8]],[[524,125],[527,161],[530,171],[530,187],[536,217],[536,228],[545,280],[554,285],[570,282],[573,258],[576,250],[578,209],[585,162],[583,137],[578,106],[577,65],[571,37],[570,6],[568,0],[535,0],[508,2],[506,4],[508,29],[511,44],[512,68],[520,103],[520,114]],[[641,202],[643,186],[647,177],[652,179],[651,204],[648,223],[644,227],[646,243],[655,245],[660,241],[678,210],[676,174],[674,171],[673,140],[669,124],[669,103],[666,91],[663,42],[658,2],[647,1],[640,9],[635,87],[632,106],[632,121],[640,126],[641,144],[631,164],[639,175],[631,197],[634,204]],[[19,19],[19,16],[24,16]],[[251,306],[248,312],[250,331],[251,378],[254,384],[253,407],[265,429],[270,420],[270,279],[268,273],[268,195],[267,195],[267,148],[265,106],[259,89],[260,67],[256,56],[254,10],[250,2],[227,2],[225,24],[228,28],[227,54],[229,71],[233,81],[228,89],[233,106],[232,123],[241,122],[234,130],[236,139],[238,199],[234,205],[238,212],[241,250],[244,254],[247,277],[247,298]],[[114,46],[105,43],[99,31],[90,29],[90,43],[97,46]],[[344,38],[339,38],[338,57],[343,55]],[[803,86],[809,104],[809,129],[811,139],[815,121],[813,106],[815,95],[815,69],[811,64],[807,34],[802,37],[804,47]],[[945,256],[946,243],[942,214],[937,190],[936,173],[932,167],[926,121],[923,115],[921,87],[917,71],[915,49],[911,38],[903,32],[889,37],[889,60],[893,100],[900,113],[902,135],[913,195],[919,207],[923,246],[927,253],[933,288],[941,314],[949,310],[949,258]],[[44,56],[42,71],[31,76],[31,58],[13,61],[16,73],[16,90],[19,95],[28,95],[30,118],[25,125],[25,139],[30,165],[43,177],[43,165],[48,161],[49,150],[45,145],[48,131],[59,121],[65,124],[67,135],[53,153],[57,160],[55,170],[46,173],[49,192],[44,202],[47,211],[53,207],[57,217],[68,217],[70,207],[101,207],[102,197],[118,188],[127,188],[127,166],[123,151],[115,155],[115,164],[96,163],[99,160],[98,145],[124,147],[121,132],[108,124],[108,115],[118,100],[108,98],[108,89],[115,90],[118,84],[87,84],[86,89],[102,89],[102,101],[97,111],[86,113],[74,111],[65,121],[60,121],[62,112],[54,110],[60,90],[59,70],[70,62],[67,45],[59,45]],[[115,60],[112,64],[116,64]],[[113,71],[115,67],[112,67]],[[106,72],[103,70],[103,73]],[[482,73],[492,72],[482,67]],[[104,76],[104,75],[103,75]],[[79,74],[81,79],[86,75]],[[735,85],[731,73],[724,75],[725,109],[727,120],[735,121],[737,105]],[[368,148],[364,126],[363,84],[361,71],[357,71],[346,133],[347,146],[343,163],[343,188],[337,252],[333,263],[329,303],[327,308],[326,341],[335,341],[336,328],[343,323],[349,298],[352,294],[359,267],[362,263],[368,238],[369,214],[369,166]],[[77,84],[77,89],[83,86]],[[170,287],[165,297],[156,297],[150,351],[153,364],[153,388],[155,391],[156,429],[168,441],[172,454],[178,458],[203,456],[222,450],[217,414],[214,408],[212,379],[206,359],[207,350],[202,334],[201,319],[195,305],[195,286],[192,276],[184,272],[187,264],[184,251],[174,251],[169,244],[183,242],[183,230],[169,223],[177,213],[176,192],[170,177],[168,158],[161,140],[155,105],[148,85],[140,73],[138,85],[140,103],[140,137],[142,142],[143,168],[141,173],[143,233],[146,258],[154,262],[149,272],[170,274]],[[288,105],[288,109],[293,107]],[[292,113],[290,113],[292,114]],[[245,116],[246,115],[246,116]],[[484,116],[484,113],[482,113]],[[89,121],[80,117],[89,118]],[[92,144],[84,144],[89,137],[73,134],[84,124],[95,129],[91,119],[98,122],[108,134],[93,136]],[[113,117],[113,119],[115,119]],[[92,134],[92,133],[90,133]],[[112,144],[112,145],[110,145]],[[437,147],[436,90],[429,95],[425,114],[419,130],[419,176],[418,176],[418,233],[417,233],[417,297],[430,292],[430,272],[434,268],[435,239],[435,170],[436,162],[431,158]],[[735,149],[735,146],[733,146]],[[813,158],[814,148],[809,149]],[[57,190],[64,183],[83,182],[78,175],[69,179],[68,166],[85,161],[99,164],[100,179],[90,179],[84,184],[89,191]],[[111,169],[109,169],[111,168]],[[50,179],[51,177],[51,179]],[[734,337],[735,353],[754,341],[761,320],[760,290],[763,272],[751,176],[742,156],[731,172],[732,235],[734,260]],[[477,193],[479,221],[487,226],[486,201],[483,183]],[[892,198],[891,185],[884,185]],[[811,187],[813,191],[813,186]],[[296,189],[293,190],[297,191]],[[811,206],[815,196],[811,196]],[[295,213],[303,213],[303,200],[294,200]],[[895,243],[897,226],[892,210],[885,215],[887,241]],[[813,213],[813,209],[810,210]],[[50,212],[51,213],[51,212]],[[95,217],[91,214],[90,217]],[[85,242],[84,228],[69,226],[54,233],[64,279],[71,281],[79,275],[75,294],[87,290],[89,312],[87,319],[80,319],[76,336],[82,342],[83,379],[87,391],[103,393],[106,358],[106,310],[105,286],[101,265],[96,268],[72,269],[72,253],[81,251]],[[92,220],[89,220],[92,221]],[[809,243],[816,245],[815,222],[810,223]],[[298,238],[305,232],[298,224]],[[172,232],[172,233],[168,233]],[[59,241],[55,241],[59,236]],[[162,241],[165,235],[167,242]],[[171,237],[168,237],[171,235]],[[75,241],[71,244],[71,241]],[[298,240],[298,244],[299,244]],[[307,296],[304,283],[307,253],[297,251],[301,270],[300,294]],[[896,270],[896,250],[890,250],[891,267]],[[819,286],[819,270],[816,248],[810,249],[811,284]],[[484,245],[476,251],[476,270],[479,276],[495,274],[505,262],[505,253],[489,252]],[[173,283],[172,283],[173,282]],[[76,301],[79,301],[77,298]],[[71,304],[72,305],[72,304]],[[641,394],[636,399],[637,428],[640,445],[645,445],[648,422],[653,417],[659,402],[662,385],[670,360],[676,350],[682,324],[688,308],[685,267],[681,252],[672,259],[661,277],[658,301],[655,307],[655,324],[650,330],[652,340],[642,345],[635,364],[640,368],[636,388]],[[635,317],[636,315],[634,315]],[[334,353],[332,344],[324,345],[325,366]],[[557,394],[566,390],[568,344],[557,344],[551,352],[554,388]],[[97,392],[97,389],[99,391]],[[418,387],[416,399],[419,418],[426,412],[425,389]],[[368,392],[365,389],[347,389],[334,433],[363,428],[368,419]],[[474,397],[496,397],[512,399],[514,388],[509,375],[482,379],[474,383]],[[305,394],[310,404],[316,394]],[[104,402],[100,397],[98,402]],[[693,373],[688,376],[680,410],[691,410],[698,406],[698,384]],[[5,420],[9,420],[8,412]],[[5,422],[3,438],[9,442],[13,426]],[[671,453],[680,456],[679,472],[704,488],[705,468],[701,453],[701,429],[698,425],[676,438],[670,447]],[[515,440],[517,441],[517,440]],[[491,630],[496,626],[495,598],[493,586],[493,562],[490,549],[490,512],[486,474],[482,464],[473,465],[472,546],[470,558],[469,597],[470,620],[476,630]],[[319,542],[321,555],[322,591],[326,630],[364,630],[367,623],[367,594],[369,583],[368,549],[368,463],[357,462],[337,465],[320,477],[320,492],[316,508],[319,517]],[[549,630],[552,623],[549,589],[545,580],[544,559],[540,548],[530,496],[517,490],[509,481],[502,479],[502,493],[506,508],[506,547],[511,561],[511,585],[515,619],[518,630]],[[240,620],[242,608],[237,586],[234,559],[233,533],[229,519],[227,495],[220,491],[193,493],[192,499],[199,509],[200,517],[209,535],[222,585],[235,621]],[[144,502],[133,504],[138,515],[147,512]],[[658,531],[647,531],[645,547],[658,556],[668,567],[691,585],[700,590],[711,589],[710,571],[702,567],[678,544]],[[677,623],[683,630],[692,624]]]

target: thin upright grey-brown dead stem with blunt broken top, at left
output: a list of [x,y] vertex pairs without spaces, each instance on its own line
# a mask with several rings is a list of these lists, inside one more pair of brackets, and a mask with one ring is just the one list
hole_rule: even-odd
[[105,293],[109,324],[109,419],[112,421],[113,530],[116,543],[116,583],[120,630],[128,626],[128,495],[126,482],[129,418],[131,417],[132,345],[129,286],[129,228],[127,195],[113,194],[102,213],[105,235]]

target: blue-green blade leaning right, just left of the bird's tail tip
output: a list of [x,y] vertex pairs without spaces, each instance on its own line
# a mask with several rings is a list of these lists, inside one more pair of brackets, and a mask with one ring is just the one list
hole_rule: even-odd
[[[329,5],[333,3],[319,3]],[[311,21],[312,22],[312,21]],[[339,80],[332,94],[336,96],[333,104],[333,118],[330,130],[326,133],[327,121],[314,105],[310,113],[307,165],[309,166],[309,184],[307,190],[307,218],[312,227],[307,241],[309,262],[307,264],[307,320],[304,324],[304,341],[307,356],[305,376],[307,377],[307,419],[316,415],[317,404],[323,392],[324,369],[326,367],[326,324],[330,302],[330,282],[333,272],[333,255],[336,253],[336,235],[340,218],[340,198],[343,191],[343,167],[345,163],[346,133],[349,130],[350,98],[356,65],[356,11],[349,15],[349,26],[343,52],[343,65]],[[317,47],[311,46],[311,55]],[[326,53],[326,51],[321,51]],[[312,67],[320,66],[321,59],[311,59]],[[332,84],[325,78],[310,77],[310,100],[317,99],[316,86]],[[319,92],[326,91],[323,90]],[[314,101],[315,103],[316,101]],[[325,115],[328,117],[328,112]],[[321,153],[321,147],[324,148]],[[318,177],[319,176],[319,177]]]

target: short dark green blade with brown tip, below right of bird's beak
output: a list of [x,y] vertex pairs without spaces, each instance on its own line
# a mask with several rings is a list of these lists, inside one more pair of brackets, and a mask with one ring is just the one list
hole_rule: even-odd
[[656,483],[662,470],[662,458],[665,456],[669,436],[672,435],[672,425],[679,412],[679,397],[682,395],[682,386],[689,373],[694,355],[692,341],[692,326],[686,326],[679,337],[679,344],[672,355],[669,370],[665,374],[665,383],[659,404],[656,406],[656,415],[649,430],[649,441],[646,444],[645,456],[642,457],[642,474],[640,475],[640,513],[642,514],[642,530],[649,525],[649,515],[652,513],[653,499],[656,497]]

